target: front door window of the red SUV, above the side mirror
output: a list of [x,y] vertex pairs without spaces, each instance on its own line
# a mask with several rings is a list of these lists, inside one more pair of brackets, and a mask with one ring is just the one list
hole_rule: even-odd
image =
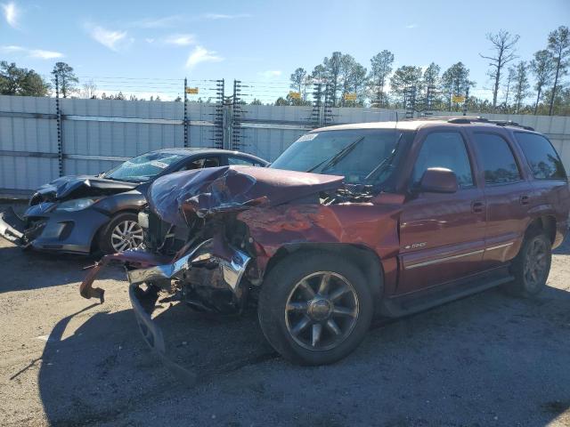
[[413,167],[412,186],[419,185],[421,177],[430,167],[451,169],[457,176],[460,189],[473,187],[473,173],[465,141],[459,132],[429,133],[424,140]]

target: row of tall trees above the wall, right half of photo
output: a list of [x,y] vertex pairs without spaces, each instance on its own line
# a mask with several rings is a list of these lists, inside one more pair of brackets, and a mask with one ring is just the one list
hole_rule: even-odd
[[403,65],[394,69],[394,53],[384,50],[371,58],[370,69],[342,52],[332,52],[311,72],[297,68],[290,76],[292,92],[275,104],[308,105],[314,99],[314,88],[318,92],[324,87],[331,107],[371,105],[419,113],[468,109],[484,113],[570,114],[570,87],[563,80],[570,66],[568,27],[551,31],[544,49],[535,52],[530,60],[517,56],[519,36],[501,29],[486,38],[490,53],[480,56],[488,61],[491,99],[472,93],[476,82],[469,79],[469,68],[461,61],[443,73],[434,62],[427,68]]

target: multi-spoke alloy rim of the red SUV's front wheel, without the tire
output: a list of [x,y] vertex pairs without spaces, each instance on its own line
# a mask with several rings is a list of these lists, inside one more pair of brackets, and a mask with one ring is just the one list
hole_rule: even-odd
[[305,349],[331,350],[353,331],[358,310],[358,296],[346,278],[318,271],[293,287],[285,305],[285,325]]

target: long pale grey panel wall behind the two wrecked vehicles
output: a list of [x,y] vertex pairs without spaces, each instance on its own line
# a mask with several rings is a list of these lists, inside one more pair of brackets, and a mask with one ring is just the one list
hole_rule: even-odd
[[[214,123],[215,104],[188,104],[189,145],[214,147],[215,132],[234,148],[232,108],[224,126]],[[241,106],[243,151],[274,160],[313,127],[311,107]],[[0,191],[36,189],[59,175],[56,107],[53,98],[0,96]],[[61,100],[64,174],[100,173],[122,159],[151,149],[183,146],[183,103],[166,101]],[[333,123],[395,120],[402,110],[332,109]],[[458,113],[437,113],[455,115]],[[570,117],[485,115],[513,120],[545,133],[570,171]]]

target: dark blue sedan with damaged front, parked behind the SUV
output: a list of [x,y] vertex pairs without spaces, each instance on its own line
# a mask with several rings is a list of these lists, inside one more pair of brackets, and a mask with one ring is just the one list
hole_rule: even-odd
[[137,214],[157,178],[220,165],[265,166],[265,160],[222,149],[159,149],[99,175],[63,176],[37,189],[23,218],[0,214],[0,237],[22,248],[71,254],[114,254],[142,246]]

